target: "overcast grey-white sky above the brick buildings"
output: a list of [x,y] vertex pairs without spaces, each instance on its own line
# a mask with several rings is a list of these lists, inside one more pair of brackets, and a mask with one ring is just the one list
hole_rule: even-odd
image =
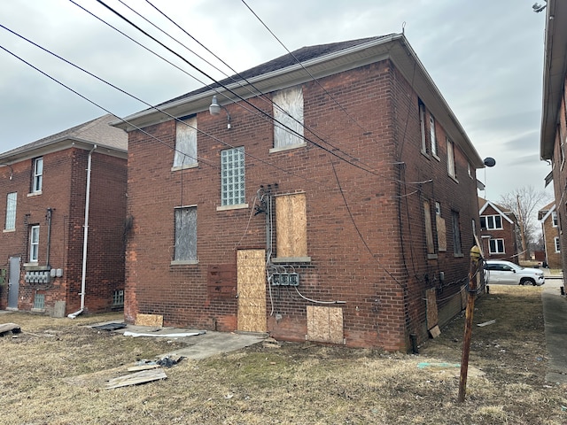
[[[97,1],[74,2],[184,72],[68,0],[2,1],[0,24],[148,104],[159,104],[211,82]],[[539,154],[546,16],[532,11],[534,0],[245,2],[289,50],[400,33],[405,26],[408,41],[480,157],[496,159],[496,166],[478,171],[478,179],[487,185],[480,196],[497,201],[519,187],[543,189],[544,177],[551,171]],[[225,73],[233,73],[146,1],[105,3],[159,35],[124,6],[128,4]],[[240,0],[151,0],[151,4],[238,72],[286,53]],[[226,76],[165,35],[159,38],[214,78]],[[0,46],[119,117],[147,107],[2,27]],[[106,113],[4,50],[0,50],[0,98],[0,151]],[[547,189],[550,197],[551,186]]]

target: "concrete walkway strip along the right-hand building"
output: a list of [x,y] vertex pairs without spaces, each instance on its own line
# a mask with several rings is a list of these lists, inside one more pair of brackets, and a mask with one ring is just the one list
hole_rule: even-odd
[[546,288],[541,292],[548,346],[548,383],[567,384],[567,299],[559,288]]

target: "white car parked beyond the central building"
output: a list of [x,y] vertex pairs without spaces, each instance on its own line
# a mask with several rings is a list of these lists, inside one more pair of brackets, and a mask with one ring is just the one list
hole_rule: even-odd
[[504,285],[543,285],[546,281],[543,272],[537,268],[520,267],[510,261],[489,259],[485,262],[486,284]]

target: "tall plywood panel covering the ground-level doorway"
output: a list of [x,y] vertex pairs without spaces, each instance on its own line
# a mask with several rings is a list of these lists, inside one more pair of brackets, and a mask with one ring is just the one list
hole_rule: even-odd
[[238,330],[266,332],[266,254],[237,251]]

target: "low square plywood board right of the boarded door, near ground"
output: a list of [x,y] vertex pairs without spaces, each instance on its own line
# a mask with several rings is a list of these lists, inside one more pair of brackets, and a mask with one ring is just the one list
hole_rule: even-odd
[[343,309],[307,305],[307,340],[344,344]]

